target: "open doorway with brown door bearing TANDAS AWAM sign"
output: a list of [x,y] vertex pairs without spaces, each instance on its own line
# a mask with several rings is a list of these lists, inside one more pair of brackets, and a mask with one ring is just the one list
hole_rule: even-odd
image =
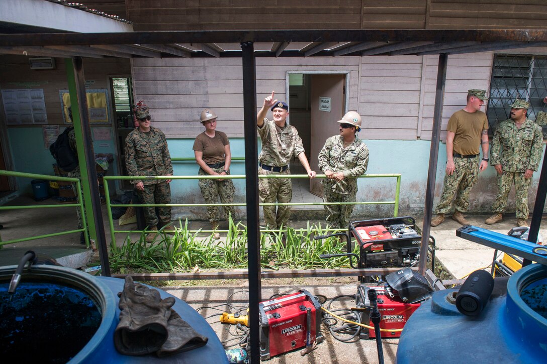
[[[319,151],[327,138],[337,134],[336,121],[346,112],[347,73],[289,72],[287,78],[290,124],[298,130],[310,166],[319,174]],[[306,174],[298,158],[293,158],[290,170],[293,174]],[[293,179],[293,202],[322,202],[322,199],[321,180]]]

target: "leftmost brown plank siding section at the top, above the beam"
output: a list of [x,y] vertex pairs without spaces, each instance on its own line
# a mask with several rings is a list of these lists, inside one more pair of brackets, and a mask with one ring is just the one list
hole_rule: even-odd
[[126,0],[136,31],[359,28],[361,0]]

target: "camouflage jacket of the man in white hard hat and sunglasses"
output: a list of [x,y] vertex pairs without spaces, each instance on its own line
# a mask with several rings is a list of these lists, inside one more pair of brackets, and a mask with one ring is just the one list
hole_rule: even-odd
[[332,192],[346,194],[351,190],[357,190],[357,178],[366,172],[369,164],[369,149],[363,140],[355,138],[353,143],[344,148],[342,137],[336,135],[325,142],[319,152],[319,168],[325,171],[344,172],[345,178],[337,182],[331,179],[322,181],[325,189]]

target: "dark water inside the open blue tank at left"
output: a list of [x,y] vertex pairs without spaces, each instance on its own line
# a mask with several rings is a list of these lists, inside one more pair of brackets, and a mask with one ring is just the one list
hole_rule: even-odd
[[101,313],[84,292],[50,283],[0,284],[0,360],[66,363],[89,342]]

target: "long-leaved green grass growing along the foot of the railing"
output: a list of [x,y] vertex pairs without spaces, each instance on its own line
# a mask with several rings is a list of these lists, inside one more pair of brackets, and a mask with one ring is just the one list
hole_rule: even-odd
[[[327,234],[329,226],[321,224],[306,228],[287,228],[284,232],[261,233],[260,265],[270,269],[347,268],[348,257],[320,259],[321,254],[346,251],[346,243],[337,237],[314,240]],[[283,244],[283,235],[286,243]],[[173,236],[160,230],[152,243],[146,243],[146,232],[138,240],[127,235],[121,247],[110,245],[110,268],[114,273],[189,272],[200,269],[247,268],[247,226],[228,220],[226,242],[214,240],[212,234],[188,232],[188,220],[179,223]]]

